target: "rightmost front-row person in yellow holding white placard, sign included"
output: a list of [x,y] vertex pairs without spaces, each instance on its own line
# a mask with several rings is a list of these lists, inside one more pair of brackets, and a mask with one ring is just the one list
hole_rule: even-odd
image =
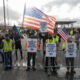
[[74,57],[76,57],[76,44],[72,42],[72,38],[69,37],[68,40],[65,43],[63,43],[62,48],[66,51],[66,72],[69,73],[71,68],[71,72],[75,73]]

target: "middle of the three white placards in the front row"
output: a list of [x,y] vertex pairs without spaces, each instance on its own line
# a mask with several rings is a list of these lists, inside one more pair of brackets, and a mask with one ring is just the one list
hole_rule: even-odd
[[46,43],[46,57],[56,57],[56,43]]

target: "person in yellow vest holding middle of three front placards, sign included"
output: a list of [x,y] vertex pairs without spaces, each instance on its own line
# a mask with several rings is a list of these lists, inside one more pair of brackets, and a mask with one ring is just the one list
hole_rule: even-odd
[[53,72],[56,72],[55,58],[56,58],[56,43],[55,43],[55,40],[53,40],[52,36],[50,36],[46,40],[45,72],[47,72],[47,69],[48,69],[49,66],[52,66]]

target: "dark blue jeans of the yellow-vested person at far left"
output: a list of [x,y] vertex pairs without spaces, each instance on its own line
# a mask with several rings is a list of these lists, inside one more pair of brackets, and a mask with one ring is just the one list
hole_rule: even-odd
[[4,64],[5,68],[12,67],[12,52],[4,53]]

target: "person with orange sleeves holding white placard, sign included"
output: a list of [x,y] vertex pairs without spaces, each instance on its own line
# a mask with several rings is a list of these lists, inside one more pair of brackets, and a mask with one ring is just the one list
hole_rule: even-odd
[[25,44],[25,49],[27,50],[27,69],[26,69],[26,71],[30,71],[31,58],[32,58],[32,69],[36,70],[35,59],[36,59],[36,53],[37,53],[38,48],[39,48],[38,40],[35,37],[30,36]]

